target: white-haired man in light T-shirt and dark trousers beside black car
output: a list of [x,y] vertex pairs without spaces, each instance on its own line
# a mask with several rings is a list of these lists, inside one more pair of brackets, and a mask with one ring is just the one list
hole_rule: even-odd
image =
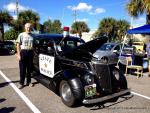
[[20,86],[19,89],[22,89],[25,85],[31,86],[31,72],[33,64],[33,35],[31,34],[32,25],[31,23],[25,24],[25,32],[20,33],[17,41],[17,58],[19,60],[19,69],[20,69]]

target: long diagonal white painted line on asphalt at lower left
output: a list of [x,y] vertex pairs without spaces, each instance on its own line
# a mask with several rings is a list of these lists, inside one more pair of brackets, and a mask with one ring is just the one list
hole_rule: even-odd
[[18,93],[18,95],[22,98],[22,100],[27,104],[27,106],[33,111],[33,113],[41,113],[35,105],[16,87],[14,83],[11,82],[9,78],[7,78],[4,73],[0,70],[0,75],[10,84],[10,86]]

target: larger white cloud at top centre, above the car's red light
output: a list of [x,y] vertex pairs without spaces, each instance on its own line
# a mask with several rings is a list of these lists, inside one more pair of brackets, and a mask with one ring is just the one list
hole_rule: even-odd
[[67,6],[67,8],[78,11],[90,11],[92,6],[88,5],[87,3],[79,3],[77,6]]

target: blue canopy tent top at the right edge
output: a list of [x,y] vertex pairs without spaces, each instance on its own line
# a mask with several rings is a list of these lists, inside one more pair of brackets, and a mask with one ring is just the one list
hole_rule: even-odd
[[150,24],[129,29],[127,33],[128,34],[150,34]]

